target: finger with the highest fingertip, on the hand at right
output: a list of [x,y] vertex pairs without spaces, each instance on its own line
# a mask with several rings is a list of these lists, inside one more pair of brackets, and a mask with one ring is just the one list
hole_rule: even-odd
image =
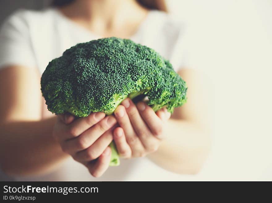
[[137,136],[140,138],[142,145],[146,150],[155,151],[159,145],[159,140],[152,136],[152,133],[139,114],[135,104],[131,100],[129,102],[130,105],[126,108],[126,112]]

